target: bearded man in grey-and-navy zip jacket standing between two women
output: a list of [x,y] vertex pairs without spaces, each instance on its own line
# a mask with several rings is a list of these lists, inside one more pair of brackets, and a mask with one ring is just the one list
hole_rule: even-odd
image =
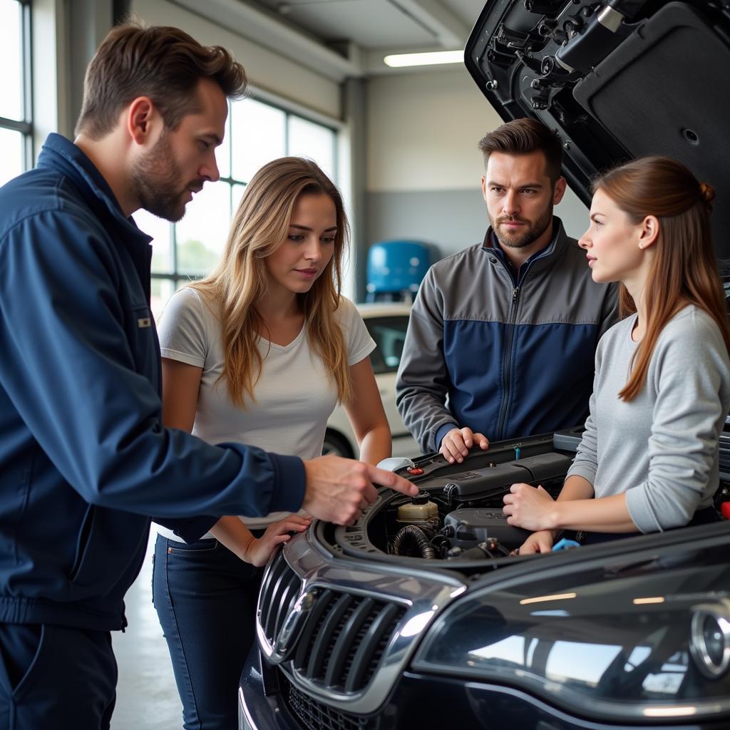
[[614,285],[596,284],[553,206],[562,145],[535,120],[480,142],[490,228],[431,266],[413,304],[398,410],[424,451],[461,462],[469,447],[583,423],[593,355],[614,322]]

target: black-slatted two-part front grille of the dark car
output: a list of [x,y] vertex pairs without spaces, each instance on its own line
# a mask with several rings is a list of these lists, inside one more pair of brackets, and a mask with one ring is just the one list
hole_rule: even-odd
[[[301,580],[278,556],[264,577],[258,621],[269,646],[299,597]],[[314,602],[296,637],[291,669],[302,680],[330,692],[363,690],[406,609],[401,604],[339,588],[312,589]]]

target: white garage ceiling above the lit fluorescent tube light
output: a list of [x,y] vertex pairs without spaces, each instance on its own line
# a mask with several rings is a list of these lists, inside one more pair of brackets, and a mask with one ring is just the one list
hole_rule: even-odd
[[337,81],[393,72],[386,53],[464,48],[485,2],[172,1]]

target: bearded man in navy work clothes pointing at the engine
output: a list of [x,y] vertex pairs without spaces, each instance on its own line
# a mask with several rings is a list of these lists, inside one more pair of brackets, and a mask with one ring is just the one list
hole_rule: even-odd
[[218,180],[242,66],[176,28],[115,28],[88,68],[77,139],[0,189],[0,728],[110,723],[109,631],[150,517],[198,539],[215,517],[304,508],[338,523],[415,487],[358,461],[207,445],[161,423],[141,207],[179,220]]

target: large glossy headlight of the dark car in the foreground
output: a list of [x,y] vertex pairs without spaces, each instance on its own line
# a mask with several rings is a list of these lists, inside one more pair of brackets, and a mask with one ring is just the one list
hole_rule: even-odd
[[434,622],[412,666],[607,721],[730,713],[730,593],[715,590],[730,585],[728,566],[650,562],[533,573],[467,594]]

